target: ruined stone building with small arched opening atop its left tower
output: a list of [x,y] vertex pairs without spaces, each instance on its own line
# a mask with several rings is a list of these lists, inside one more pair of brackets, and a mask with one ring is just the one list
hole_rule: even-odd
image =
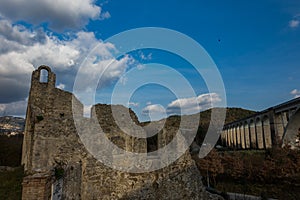
[[[47,73],[45,82],[40,79],[42,70]],[[149,173],[124,172],[94,158],[77,134],[74,115],[82,118],[82,126],[92,127],[96,120],[102,127],[101,134],[131,152],[160,148],[172,134],[164,129],[148,143],[146,138],[124,134],[111,115],[112,107],[128,112],[123,106],[97,104],[92,108],[94,116],[84,118],[83,105],[72,93],[56,88],[55,80],[55,74],[47,66],[40,66],[32,73],[22,154],[23,200],[212,198],[205,192],[200,173],[188,152],[171,165]],[[76,113],[72,112],[72,105]],[[124,119],[128,129],[135,127],[133,123],[139,125],[131,110],[130,115],[132,120]],[[90,128],[86,134],[93,135],[93,131]],[[99,151],[106,151],[101,141],[99,144]],[[119,162],[118,152],[107,153]]]

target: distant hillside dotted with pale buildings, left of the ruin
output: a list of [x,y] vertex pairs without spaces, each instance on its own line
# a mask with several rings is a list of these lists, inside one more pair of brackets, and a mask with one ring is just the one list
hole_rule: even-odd
[[4,116],[0,117],[0,135],[23,134],[25,119],[21,117]]

